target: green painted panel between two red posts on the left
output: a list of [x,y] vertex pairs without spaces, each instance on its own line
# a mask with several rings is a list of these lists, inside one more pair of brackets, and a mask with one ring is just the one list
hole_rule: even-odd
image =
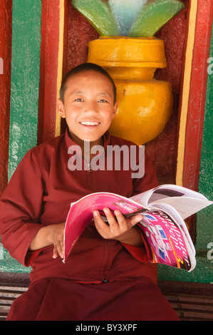
[[9,179],[37,144],[41,0],[14,0],[11,50]]

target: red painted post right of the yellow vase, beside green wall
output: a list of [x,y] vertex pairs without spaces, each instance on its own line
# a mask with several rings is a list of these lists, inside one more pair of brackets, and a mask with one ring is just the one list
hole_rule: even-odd
[[212,19],[213,1],[198,0],[182,174],[182,185],[192,190],[197,190],[199,184]]

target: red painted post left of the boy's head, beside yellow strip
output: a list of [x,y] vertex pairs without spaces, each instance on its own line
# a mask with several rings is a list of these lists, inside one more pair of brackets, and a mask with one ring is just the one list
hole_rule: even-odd
[[42,1],[38,144],[55,137],[60,1]]

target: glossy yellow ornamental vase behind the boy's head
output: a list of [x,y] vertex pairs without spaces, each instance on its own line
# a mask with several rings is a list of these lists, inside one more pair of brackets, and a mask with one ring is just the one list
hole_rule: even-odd
[[154,78],[167,66],[164,41],[155,37],[101,36],[88,43],[88,62],[103,66],[117,88],[110,133],[137,145],[156,138],[172,113],[172,88]]

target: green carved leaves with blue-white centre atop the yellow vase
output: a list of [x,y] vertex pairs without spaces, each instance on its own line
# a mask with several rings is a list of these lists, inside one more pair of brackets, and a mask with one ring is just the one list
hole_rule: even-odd
[[117,1],[73,0],[72,4],[100,36],[130,37],[154,36],[185,6],[177,0],[157,0],[151,3],[141,0],[141,4],[140,0],[125,0],[125,6],[123,0]]

